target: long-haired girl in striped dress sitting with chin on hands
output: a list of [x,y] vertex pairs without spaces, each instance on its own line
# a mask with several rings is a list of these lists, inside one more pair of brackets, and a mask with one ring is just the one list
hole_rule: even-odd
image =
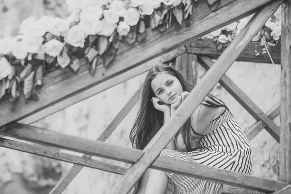
[[[144,149],[192,89],[169,65],[150,69],[130,131],[132,146]],[[252,152],[246,136],[225,103],[210,94],[160,155],[244,174],[250,174],[252,169]],[[166,194],[168,185],[174,187],[175,194],[222,193],[219,183],[150,169],[137,181],[134,194]]]

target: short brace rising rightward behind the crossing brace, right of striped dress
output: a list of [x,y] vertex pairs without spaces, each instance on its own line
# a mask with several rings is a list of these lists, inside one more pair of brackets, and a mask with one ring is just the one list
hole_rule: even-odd
[[[267,116],[274,120],[280,114],[280,102],[278,102],[271,110],[267,113]],[[249,129],[245,131],[245,136],[249,141],[251,141],[259,132],[266,127],[266,124],[262,121],[257,121]]]

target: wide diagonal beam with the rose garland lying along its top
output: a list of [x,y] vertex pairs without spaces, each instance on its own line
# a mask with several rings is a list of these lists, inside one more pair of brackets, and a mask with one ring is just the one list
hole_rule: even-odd
[[[217,10],[213,12],[209,9],[207,1],[197,1],[193,8],[193,14],[187,22],[183,22],[182,25],[175,23],[163,33],[154,29],[147,33],[146,40],[135,42],[133,45],[122,43],[113,59],[112,65],[105,69],[99,63],[94,76],[90,75],[88,64],[82,65],[77,74],[71,70],[57,70],[45,76],[44,84],[37,91],[39,96],[37,103],[27,101],[24,98],[20,98],[14,103],[8,100],[2,101],[0,103],[0,127],[19,121],[50,106],[59,106],[58,103],[69,97],[144,64],[170,50],[182,47],[187,42],[193,41],[213,30],[253,14],[260,7],[273,1],[222,0]],[[78,100],[81,101],[85,98],[87,96]]]

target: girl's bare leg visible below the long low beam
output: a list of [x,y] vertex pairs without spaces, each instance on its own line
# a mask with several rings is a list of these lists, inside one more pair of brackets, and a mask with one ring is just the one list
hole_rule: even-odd
[[165,172],[150,169],[146,185],[146,194],[166,194],[168,187],[168,176]]

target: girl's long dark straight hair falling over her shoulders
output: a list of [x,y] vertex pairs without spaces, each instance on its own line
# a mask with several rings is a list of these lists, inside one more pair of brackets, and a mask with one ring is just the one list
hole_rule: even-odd
[[[156,110],[151,102],[151,98],[154,97],[154,92],[151,89],[151,81],[156,78],[159,73],[162,72],[175,76],[178,81],[180,81],[183,91],[191,92],[191,90],[193,89],[193,86],[187,80],[185,80],[185,78],[175,68],[166,64],[157,65],[151,68],[146,75],[140,107],[129,134],[129,139],[132,143],[133,148],[144,149],[163,125],[163,113]],[[222,106],[226,107],[226,105],[221,100],[210,94],[204,98],[201,104],[213,108]],[[182,133],[182,137],[185,141],[187,151],[191,151],[191,140],[197,138],[197,135],[201,136],[201,134],[197,133],[191,126],[191,117],[187,119],[185,124],[181,127],[181,129],[179,129],[178,133],[175,135],[175,146],[176,139],[180,132]],[[195,136],[192,134],[195,134]],[[135,190],[133,192],[134,194],[137,193],[140,186],[141,178],[137,181],[135,185]]]

